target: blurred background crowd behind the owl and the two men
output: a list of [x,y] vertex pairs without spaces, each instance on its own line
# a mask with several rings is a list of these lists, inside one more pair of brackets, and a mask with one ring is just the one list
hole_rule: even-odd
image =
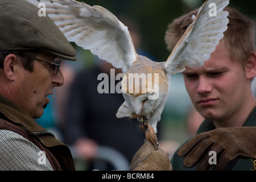
[[[128,27],[140,55],[166,61],[170,55],[164,42],[168,23],[200,7],[204,0],[86,0],[86,3],[103,6],[116,15]],[[229,6],[256,22],[255,0],[230,0]],[[115,117],[124,101],[122,94],[97,92],[102,81],[97,80],[97,76],[109,75],[112,65],[99,60],[90,51],[73,46],[78,59],[75,63],[61,62],[65,84],[55,88],[43,117],[36,122],[71,147],[77,170],[128,170],[131,158],[143,144],[143,130],[136,119]],[[115,69],[115,74],[119,72],[121,70]],[[158,125],[160,147],[171,158],[181,143],[195,135],[202,121],[191,104],[181,73],[175,74]]]

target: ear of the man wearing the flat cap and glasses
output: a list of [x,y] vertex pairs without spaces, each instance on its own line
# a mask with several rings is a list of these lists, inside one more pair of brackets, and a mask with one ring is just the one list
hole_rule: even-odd
[[18,56],[10,54],[7,55],[3,61],[3,71],[5,73],[6,78],[10,81],[15,80],[14,65],[18,63],[17,59]]

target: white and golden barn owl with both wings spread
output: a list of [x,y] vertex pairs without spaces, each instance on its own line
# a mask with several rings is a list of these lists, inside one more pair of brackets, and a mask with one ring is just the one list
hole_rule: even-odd
[[122,68],[125,102],[116,116],[146,121],[155,133],[170,93],[172,75],[183,72],[186,66],[202,66],[223,38],[229,22],[228,12],[223,11],[229,0],[206,1],[191,17],[193,22],[167,60],[155,62],[137,54],[128,28],[104,7],[75,0],[27,1],[39,10],[46,9],[69,42],[90,49],[115,68]]

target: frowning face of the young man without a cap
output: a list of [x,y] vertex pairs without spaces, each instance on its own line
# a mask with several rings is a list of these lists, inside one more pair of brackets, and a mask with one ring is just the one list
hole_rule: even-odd
[[225,121],[246,108],[250,80],[245,68],[230,59],[225,44],[219,44],[202,67],[187,68],[183,76],[193,105],[204,118]]

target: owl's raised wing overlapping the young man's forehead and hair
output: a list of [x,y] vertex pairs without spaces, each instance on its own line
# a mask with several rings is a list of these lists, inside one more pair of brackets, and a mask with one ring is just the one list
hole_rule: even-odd
[[[211,9],[214,3],[216,9]],[[183,72],[185,66],[201,67],[204,61],[210,58],[219,41],[224,37],[223,32],[228,29],[228,11],[223,11],[229,0],[210,0],[200,7],[197,17],[187,28],[171,55],[168,57],[164,68],[167,73]],[[216,15],[212,14],[216,10]]]

